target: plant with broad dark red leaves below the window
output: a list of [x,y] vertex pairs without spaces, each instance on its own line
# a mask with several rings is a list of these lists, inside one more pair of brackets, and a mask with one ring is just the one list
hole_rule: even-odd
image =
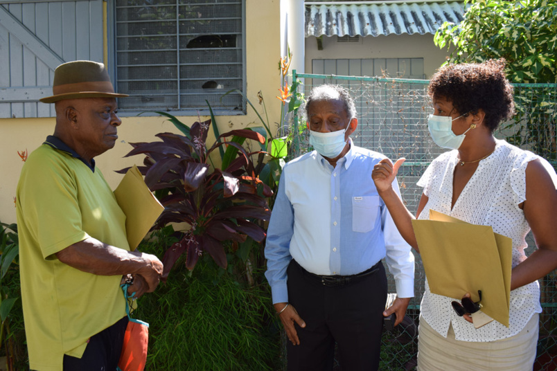
[[[240,143],[245,138],[265,143],[265,137],[249,129],[238,129],[218,136],[207,148],[211,120],[188,128],[174,116],[159,114],[168,116],[185,135],[160,133],[156,136],[162,141],[130,143],[134,149],[126,156],[145,154],[144,166],[138,168],[150,190],[163,194],[159,199],[164,211],[153,229],[173,222],[191,226],[166,250],[163,277],[168,276],[184,253],[188,269],[194,268],[204,252],[226,268],[225,244],[238,248],[238,243],[245,242],[248,236],[256,242],[265,239],[265,230],[255,221],[269,219],[266,197],[272,195],[272,190],[256,177],[251,156],[259,152],[248,153],[237,143],[239,138]],[[229,136],[233,136],[231,141],[220,141]],[[225,169],[214,168],[209,165],[209,155],[222,145],[235,147],[232,152],[237,152],[236,158]]]

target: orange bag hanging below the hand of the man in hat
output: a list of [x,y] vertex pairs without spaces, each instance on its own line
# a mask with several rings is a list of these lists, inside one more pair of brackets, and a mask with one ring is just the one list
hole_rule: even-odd
[[147,346],[149,343],[149,324],[142,320],[135,320],[130,317],[129,300],[127,295],[128,283],[122,285],[125,296],[125,312],[130,322],[127,323],[124,334],[124,343],[120,361],[118,361],[119,371],[143,371],[147,361]]

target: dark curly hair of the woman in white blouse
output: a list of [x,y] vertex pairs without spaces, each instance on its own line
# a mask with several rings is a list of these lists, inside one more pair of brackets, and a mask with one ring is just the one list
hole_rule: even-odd
[[493,133],[499,123],[515,114],[513,86],[505,78],[506,61],[448,64],[437,70],[430,80],[430,97],[452,102],[459,114],[486,113],[484,125]]

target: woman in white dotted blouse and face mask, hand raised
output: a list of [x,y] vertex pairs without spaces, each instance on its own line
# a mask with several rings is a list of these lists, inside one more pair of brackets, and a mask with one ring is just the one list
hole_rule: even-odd
[[[493,320],[476,329],[459,316],[452,298],[425,282],[418,338],[418,370],[531,370],[536,359],[540,306],[538,279],[557,267],[557,175],[540,156],[496,139],[493,131],[514,114],[513,87],[504,60],[452,64],[439,69],[428,93],[433,141],[452,149],[436,158],[418,181],[423,187],[416,217],[430,210],[471,224],[492,226],[513,239],[509,327]],[[414,216],[391,188],[398,168],[375,165],[372,178],[398,230],[416,251]],[[538,249],[529,257],[532,230]],[[419,252],[419,251],[418,251]]]

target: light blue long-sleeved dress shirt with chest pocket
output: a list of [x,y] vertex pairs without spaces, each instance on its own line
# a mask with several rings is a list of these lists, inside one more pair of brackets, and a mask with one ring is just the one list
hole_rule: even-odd
[[[317,151],[283,169],[265,245],[273,303],[288,302],[292,258],[318,275],[353,275],[386,257],[397,295],[414,296],[414,255],[371,179],[385,156],[350,146],[334,169]],[[396,179],[393,188],[400,196]]]

